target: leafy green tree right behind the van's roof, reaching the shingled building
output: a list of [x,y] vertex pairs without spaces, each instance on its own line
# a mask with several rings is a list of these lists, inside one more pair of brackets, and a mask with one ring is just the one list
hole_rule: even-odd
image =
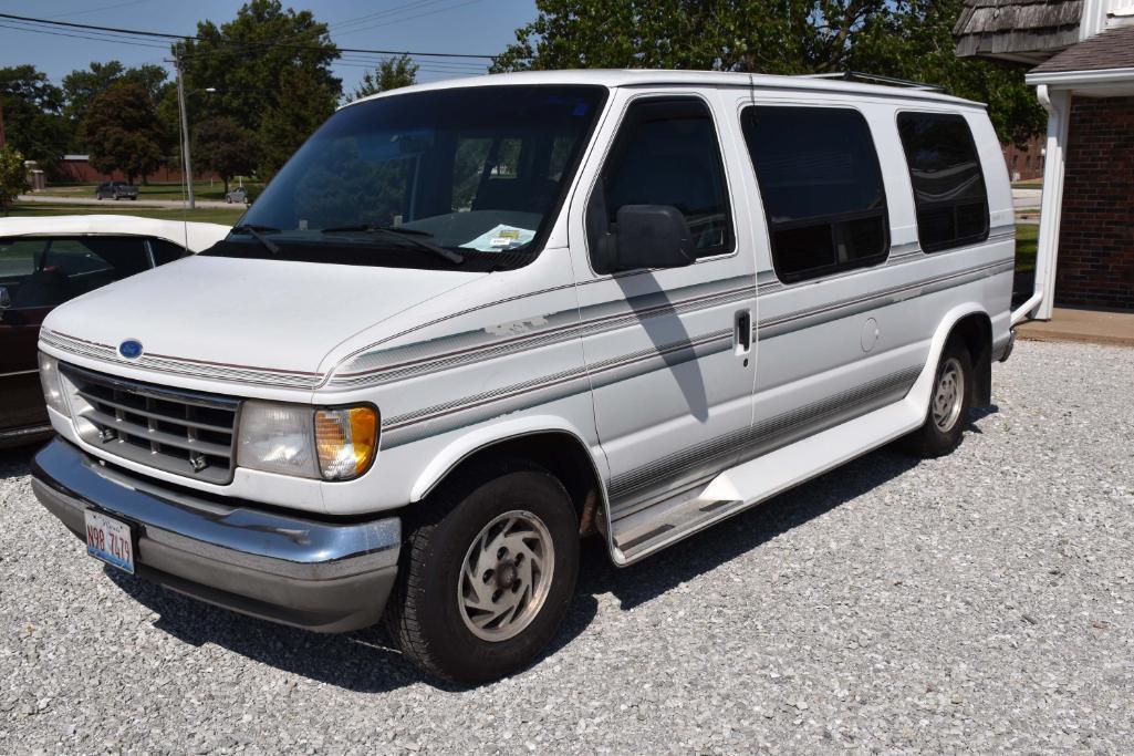
[[958,59],[963,0],[536,0],[492,70],[857,70],[939,84],[989,103],[1002,141],[1042,128],[1024,69]]

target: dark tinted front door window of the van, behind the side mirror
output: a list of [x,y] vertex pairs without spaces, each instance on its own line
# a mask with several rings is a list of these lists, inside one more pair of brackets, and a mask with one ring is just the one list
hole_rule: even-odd
[[733,247],[717,132],[700,100],[632,106],[603,169],[602,192],[610,232],[623,205],[668,204],[685,216],[697,257]]

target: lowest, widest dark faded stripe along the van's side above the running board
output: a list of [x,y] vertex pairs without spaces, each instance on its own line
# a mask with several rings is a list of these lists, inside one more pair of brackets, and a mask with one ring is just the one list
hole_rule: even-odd
[[883,376],[863,386],[784,412],[754,427],[734,430],[703,444],[679,450],[660,460],[615,476],[610,480],[611,518],[618,519],[643,507],[634,506],[659,488],[695,482],[716,476],[739,451],[739,462],[787,446],[806,436],[831,428],[898,401],[913,386],[922,367]]

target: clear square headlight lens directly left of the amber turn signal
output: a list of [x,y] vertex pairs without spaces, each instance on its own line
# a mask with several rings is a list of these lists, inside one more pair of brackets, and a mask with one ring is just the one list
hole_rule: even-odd
[[242,468],[318,478],[311,408],[276,402],[245,402],[236,463]]

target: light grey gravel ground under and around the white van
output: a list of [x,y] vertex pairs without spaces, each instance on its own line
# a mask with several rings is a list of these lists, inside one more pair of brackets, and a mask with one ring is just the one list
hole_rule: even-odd
[[439,687],[119,578],[0,455],[0,749],[1134,750],[1134,350],[1021,343],[951,456],[882,450],[627,570],[535,667]]

